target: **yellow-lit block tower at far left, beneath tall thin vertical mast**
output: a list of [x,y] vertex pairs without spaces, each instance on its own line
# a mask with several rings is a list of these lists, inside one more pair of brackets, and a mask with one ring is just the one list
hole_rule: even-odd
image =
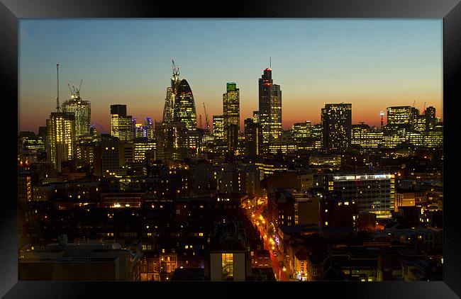
[[46,120],[48,162],[58,172],[61,163],[75,157],[75,116],[73,113],[52,112]]

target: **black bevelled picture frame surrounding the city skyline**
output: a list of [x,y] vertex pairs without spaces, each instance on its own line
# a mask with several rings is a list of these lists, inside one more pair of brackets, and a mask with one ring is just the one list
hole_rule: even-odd
[[[172,298],[249,297],[251,295],[340,296],[342,298],[459,298],[461,296],[461,230],[457,219],[457,176],[460,157],[453,147],[459,137],[455,123],[457,101],[461,101],[461,4],[460,0],[293,0],[233,1],[223,6],[189,1],[121,1],[121,0],[0,0],[0,78],[1,98],[13,109],[2,109],[14,118],[18,109],[18,20],[21,18],[439,18],[443,19],[443,110],[445,204],[443,281],[431,282],[313,282],[313,283],[155,283],[155,282],[39,282],[18,281],[18,203],[17,152],[5,156],[1,188],[0,296],[4,298],[121,298],[147,292],[149,297]],[[15,106],[16,101],[16,106]],[[19,111],[16,111],[18,115]],[[6,126],[8,141],[17,135]],[[450,130],[448,130],[450,128]],[[11,133],[10,133],[11,132]],[[11,134],[11,135],[10,135]],[[14,135],[14,136],[13,136]],[[11,139],[10,139],[11,138]],[[11,141],[10,141],[11,140]],[[13,157],[16,154],[16,158]],[[450,175],[453,174],[453,175]],[[167,292],[167,293],[164,293]],[[186,297],[186,298],[187,298]]]

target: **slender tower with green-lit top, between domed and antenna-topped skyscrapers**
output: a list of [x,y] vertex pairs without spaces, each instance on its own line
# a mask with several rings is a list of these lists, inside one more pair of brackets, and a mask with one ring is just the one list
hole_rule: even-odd
[[240,90],[235,82],[228,82],[223,94],[223,129],[228,150],[235,152],[240,132]]

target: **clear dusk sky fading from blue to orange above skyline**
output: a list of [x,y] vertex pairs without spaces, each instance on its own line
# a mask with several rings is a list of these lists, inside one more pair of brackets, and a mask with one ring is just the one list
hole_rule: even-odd
[[240,130],[258,109],[269,67],[282,89],[283,128],[320,121],[324,103],[352,103],[352,123],[379,125],[388,106],[424,103],[443,117],[442,19],[60,19],[20,21],[18,130],[38,132],[67,83],[110,132],[109,106],[162,120],[171,60],[194,94],[197,119],[221,115],[226,82],[240,89]]

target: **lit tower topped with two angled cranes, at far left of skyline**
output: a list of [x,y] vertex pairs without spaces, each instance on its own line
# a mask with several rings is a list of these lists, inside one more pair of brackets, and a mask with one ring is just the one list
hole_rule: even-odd
[[70,99],[62,103],[62,112],[74,113],[76,137],[89,136],[91,103],[82,100],[79,91],[72,92]]

